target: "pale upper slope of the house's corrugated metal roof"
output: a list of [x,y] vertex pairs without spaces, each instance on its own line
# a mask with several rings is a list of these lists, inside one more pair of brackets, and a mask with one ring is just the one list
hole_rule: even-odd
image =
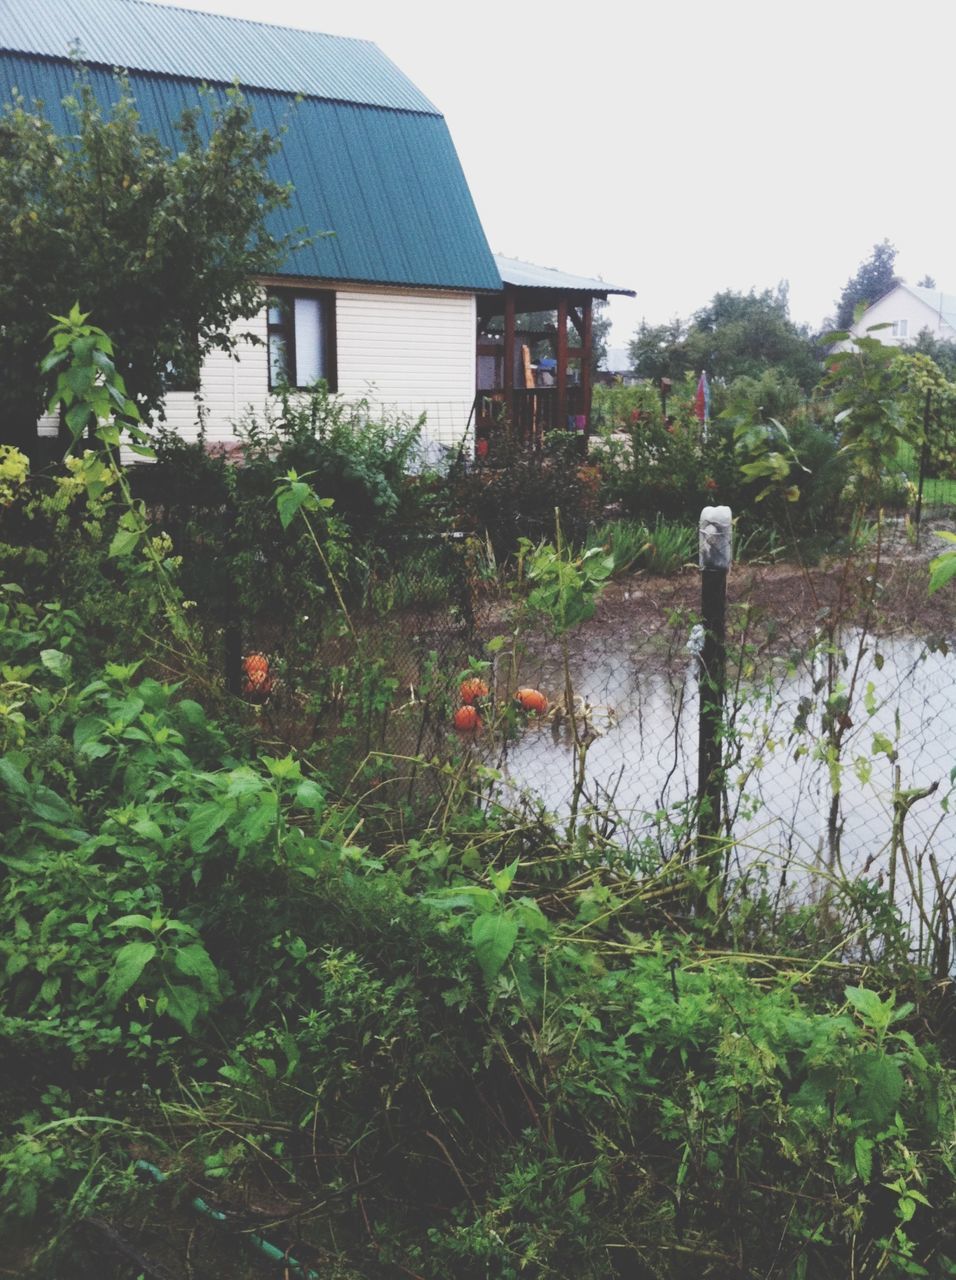
[[440,113],[367,40],[148,0],[0,0],[0,47],[339,102]]

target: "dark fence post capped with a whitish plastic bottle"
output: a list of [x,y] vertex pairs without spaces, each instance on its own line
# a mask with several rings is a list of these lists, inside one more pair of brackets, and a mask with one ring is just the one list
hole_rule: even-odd
[[699,525],[700,613],[704,643],[697,666],[697,855],[721,829],[722,724],[727,675],[727,571],[732,554],[729,507],[704,507]]

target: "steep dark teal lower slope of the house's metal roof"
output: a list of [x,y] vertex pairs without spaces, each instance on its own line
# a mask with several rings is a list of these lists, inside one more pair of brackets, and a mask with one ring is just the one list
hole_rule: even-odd
[[[106,10],[138,14],[160,8],[141,0],[0,0],[0,102],[9,101],[17,87],[28,102],[44,101],[47,116],[60,132],[72,132],[61,101],[73,91],[76,69],[65,58],[54,60],[46,52],[51,47],[49,24],[46,35],[33,41],[42,46],[40,54],[5,50],[15,40],[26,42],[31,23],[24,14],[32,17],[60,8],[73,12],[81,4],[87,18],[81,32],[84,47],[88,32],[99,26]],[[17,22],[12,23],[14,12]],[[164,8],[163,14],[168,13],[184,15],[186,10]],[[233,24],[260,29],[259,23]],[[334,40],[333,44],[344,45],[348,51],[362,42]],[[127,50],[127,55],[132,52],[142,52],[138,44]],[[205,46],[191,56],[197,67],[205,65]],[[133,58],[118,61],[129,67]],[[115,101],[118,87],[113,73],[91,67],[88,74],[97,99],[104,105]],[[201,79],[211,79],[209,69],[205,74],[197,70],[195,77],[131,69],[129,83],[143,128],[174,147],[174,123],[184,108],[200,102]],[[401,81],[408,83],[403,77]],[[448,127],[434,109],[417,111],[316,96],[297,101],[291,92],[257,87],[243,87],[243,92],[260,128],[274,136],[285,131],[282,150],[270,168],[276,180],[291,182],[294,191],[291,205],[271,216],[271,230],[279,236],[294,234],[301,228],[308,234],[334,232],[292,253],[280,274],[470,292],[500,289],[500,276]],[[223,102],[225,90],[214,87],[211,95],[212,101]]]

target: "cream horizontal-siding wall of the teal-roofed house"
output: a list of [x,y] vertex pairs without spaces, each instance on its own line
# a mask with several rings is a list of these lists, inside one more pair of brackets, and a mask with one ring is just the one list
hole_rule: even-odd
[[[242,343],[239,358],[215,351],[202,366],[206,439],[227,444],[235,424],[269,401],[266,311],[237,332],[261,346]],[[361,288],[335,293],[339,396],[367,399],[371,411],[426,413],[424,439],[457,447],[470,428],[475,402],[476,306],[471,293],[406,293]],[[188,392],[166,399],[166,424],[196,439],[196,401]],[[470,436],[471,439],[471,436]]]

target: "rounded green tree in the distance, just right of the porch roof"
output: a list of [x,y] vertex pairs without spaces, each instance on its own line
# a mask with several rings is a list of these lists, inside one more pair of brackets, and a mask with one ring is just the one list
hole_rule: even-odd
[[729,383],[777,369],[809,390],[820,374],[810,334],[790,319],[786,284],[760,293],[724,289],[689,324],[642,324],[630,352],[637,372],[651,379],[677,379],[705,369]]

